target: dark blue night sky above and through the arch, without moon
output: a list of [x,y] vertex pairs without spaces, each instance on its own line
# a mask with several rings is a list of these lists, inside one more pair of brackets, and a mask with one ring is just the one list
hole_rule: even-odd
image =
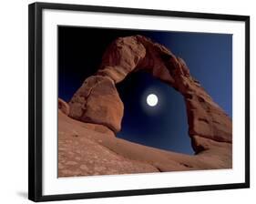
[[[87,76],[97,72],[107,46],[119,36],[133,35],[148,36],[183,58],[191,75],[232,117],[232,36],[223,34],[58,26],[58,97],[68,102]],[[193,154],[179,92],[141,71],[117,88],[125,107],[118,138]],[[156,107],[146,103],[152,93],[159,97]]]

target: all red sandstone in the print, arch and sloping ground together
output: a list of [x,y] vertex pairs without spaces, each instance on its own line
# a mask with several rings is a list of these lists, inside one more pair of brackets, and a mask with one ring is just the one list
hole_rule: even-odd
[[[207,67],[206,67],[207,68]],[[124,106],[116,84],[144,70],[184,97],[195,156],[116,138]],[[232,123],[185,62],[145,36],[119,37],[67,104],[58,100],[58,176],[232,167]]]

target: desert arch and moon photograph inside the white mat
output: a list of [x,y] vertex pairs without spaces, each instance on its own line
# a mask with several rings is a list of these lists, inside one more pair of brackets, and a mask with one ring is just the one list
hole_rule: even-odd
[[232,168],[231,34],[56,29],[58,178]]

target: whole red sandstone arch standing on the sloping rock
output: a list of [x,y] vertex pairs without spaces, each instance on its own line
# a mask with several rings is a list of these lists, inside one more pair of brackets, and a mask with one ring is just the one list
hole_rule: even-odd
[[118,132],[124,107],[115,84],[141,69],[174,87],[184,97],[189,137],[195,152],[207,154],[207,150],[214,150],[218,157],[225,155],[225,160],[229,160],[226,166],[230,167],[230,117],[189,74],[181,58],[145,36],[119,37],[108,46],[96,75],[89,76],[69,102],[69,117]]

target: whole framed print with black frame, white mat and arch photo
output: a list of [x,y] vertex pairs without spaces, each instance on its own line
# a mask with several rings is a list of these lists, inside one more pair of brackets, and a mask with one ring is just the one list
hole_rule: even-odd
[[29,199],[250,186],[250,17],[29,5]]

